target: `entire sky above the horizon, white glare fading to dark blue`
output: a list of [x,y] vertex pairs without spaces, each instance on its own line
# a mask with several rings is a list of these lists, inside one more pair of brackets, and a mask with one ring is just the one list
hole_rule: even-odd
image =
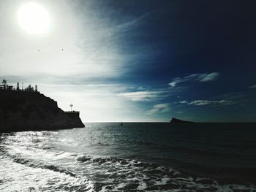
[[0,78],[37,84],[84,122],[255,121],[255,6],[1,0]]

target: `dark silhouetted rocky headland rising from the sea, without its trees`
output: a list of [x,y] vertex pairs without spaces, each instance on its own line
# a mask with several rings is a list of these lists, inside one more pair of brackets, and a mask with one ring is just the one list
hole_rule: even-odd
[[75,127],[84,127],[79,112],[64,112],[39,92],[0,90],[0,132]]

